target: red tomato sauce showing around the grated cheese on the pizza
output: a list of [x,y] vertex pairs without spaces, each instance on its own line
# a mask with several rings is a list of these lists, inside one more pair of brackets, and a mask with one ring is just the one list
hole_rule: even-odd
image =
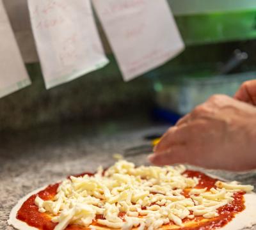
[[[83,176],[84,174],[88,174],[92,176],[91,173],[83,173],[76,176]],[[187,170],[185,173],[189,178],[196,177],[199,179],[198,185],[195,188],[207,188],[210,189],[212,187],[215,188],[216,179],[211,178],[204,173],[200,173],[197,171]],[[36,227],[40,230],[53,230],[57,225],[56,223],[51,222],[51,215],[47,213],[40,213],[38,211],[38,206],[35,204],[36,195],[38,195],[41,199],[52,200],[54,196],[57,194],[59,183],[54,185],[49,185],[47,188],[38,192],[38,194],[31,195],[27,201],[25,201],[20,210],[17,213],[17,219],[26,222],[29,226]],[[189,190],[184,190],[184,195],[189,197]],[[189,225],[189,227],[180,227],[180,230],[210,230],[210,229],[218,229],[219,227],[225,226],[232,218],[235,217],[236,213],[239,213],[244,210],[244,192],[236,192],[234,194],[234,201],[230,204],[222,206],[218,209],[218,217],[211,218],[207,220],[207,222],[201,222],[203,217],[195,217],[193,219],[193,224]],[[124,220],[124,212],[119,213],[119,217]],[[97,219],[104,219],[103,215],[97,215]],[[183,222],[191,221],[189,218],[185,218]],[[171,224],[174,224],[171,222]],[[66,230],[88,230],[88,227],[81,227],[77,225],[70,225],[66,228]]]

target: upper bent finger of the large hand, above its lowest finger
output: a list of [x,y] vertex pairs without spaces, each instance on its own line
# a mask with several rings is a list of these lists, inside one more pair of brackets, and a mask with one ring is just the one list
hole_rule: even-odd
[[184,132],[185,126],[172,127],[161,137],[159,143],[155,146],[155,153],[164,153],[168,151],[173,144],[185,144],[188,134]]

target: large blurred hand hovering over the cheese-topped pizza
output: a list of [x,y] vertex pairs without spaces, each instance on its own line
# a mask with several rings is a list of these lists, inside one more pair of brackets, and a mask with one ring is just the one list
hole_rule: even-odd
[[148,158],[156,165],[254,169],[256,107],[225,95],[211,96],[169,128]]

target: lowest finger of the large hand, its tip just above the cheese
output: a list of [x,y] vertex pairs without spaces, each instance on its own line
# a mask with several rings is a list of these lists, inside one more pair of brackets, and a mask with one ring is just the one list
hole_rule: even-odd
[[172,146],[172,148],[163,154],[154,153],[148,156],[150,163],[154,165],[170,165],[170,164],[189,164],[194,163],[194,157],[189,154],[186,146]]

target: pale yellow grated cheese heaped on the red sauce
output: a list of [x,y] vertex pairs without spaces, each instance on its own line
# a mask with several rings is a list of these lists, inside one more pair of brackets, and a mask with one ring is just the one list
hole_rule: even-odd
[[[170,221],[182,226],[184,218],[216,217],[217,209],[234,199],[234,192],[253,190],[253,186],[236,181],[218,181],[217,188],[208,191],[197,189],[198,178],[182,175],[185,170],[183,165],[135,167],[120,160],[104,176],[102,167],[94,176],[71,176],[60,184],[54,201],[37,196],[35,204],[40,212],[54,215],[52,222],[58,223],[54,230],[69,224],[95,229],[95,223],[114,229],[152,230]],[[184,189],[189,190],[190,197],[183,195]],[[120,212],[125,213],[124,220]]]

